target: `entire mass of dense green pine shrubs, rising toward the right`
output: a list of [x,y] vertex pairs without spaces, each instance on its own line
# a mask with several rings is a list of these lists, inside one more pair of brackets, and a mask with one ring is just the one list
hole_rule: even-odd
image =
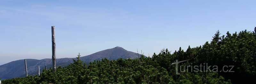
[[[255,28],[256,29],[256,28]],[[255,30],[256,31],[256,30]],[[94,61],[87,67],[80,54],[67,67],[58,67],[57,72],[44,70],[40,76],[4,80],[4,84],[231,84],[256,75],[256,34],[242,31],[238,34],[220,36],[217,31],[212,41],[203,46],[181,48],[171,54],[168,49],[152,57]],[[175,74],[178,59],[187,60],[183,65],[235,65],[234,73],[193,73]],[[239,79],[239,80],[238,80]]]

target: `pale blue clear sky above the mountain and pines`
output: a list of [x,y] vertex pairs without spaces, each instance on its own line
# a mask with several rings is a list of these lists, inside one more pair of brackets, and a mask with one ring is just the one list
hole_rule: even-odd
[[211,41],[217,30],[256,26],[256,1],[0,0],[0,65],[25,58],[76,57],[123,47],[146,56]]

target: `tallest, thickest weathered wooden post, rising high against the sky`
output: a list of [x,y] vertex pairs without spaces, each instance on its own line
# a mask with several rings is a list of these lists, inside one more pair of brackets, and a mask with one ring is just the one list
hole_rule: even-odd
[[52,26],[52,71],[56,72],[56,43],[54,26]]

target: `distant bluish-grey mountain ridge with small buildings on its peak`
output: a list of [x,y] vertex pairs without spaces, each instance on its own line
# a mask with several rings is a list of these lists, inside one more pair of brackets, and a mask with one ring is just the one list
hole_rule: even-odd
[[[140,55],[140,54],[139,54]],[[58,56],[58,55],[57,55]],[[102,50],[96,53],[93,53],[88,56],[80,57],[87,65],[94,60],[101,60],[107,58],[109,60],[116,60],[118,58],[123,59],[135,59],[138,58],[138,53],[127,51],[122,47],[115,47],[112,49]],[[70,63],[73,63],[73,59],[76,58],[60,58],[56,59],[57,66],[67,66]],[[45,66],[49,69],[52,67],[52,59],[26,59],[27,60],[27,69],[28,75],[37,74],[37,67],[40,66],[40,71],[42,72]],[[11,79],[16,77],[25,77],[25,64],[24,59],[12,61],[10,63],[0,65],[0,79]]]

